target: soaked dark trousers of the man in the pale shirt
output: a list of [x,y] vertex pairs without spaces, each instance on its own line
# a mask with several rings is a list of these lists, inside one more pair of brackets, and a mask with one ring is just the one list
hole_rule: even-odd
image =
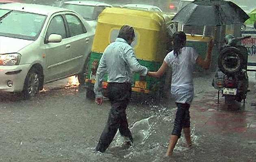
[[126,118],[126,107],[130,101],[131,93],[130,83],[108,83],[107,95],[111,102],[111,110],[99,143],[95,148],[96,151],[106,151],[115,137],[117,129],[119,129],[121,136],[128,137],[133,142]]

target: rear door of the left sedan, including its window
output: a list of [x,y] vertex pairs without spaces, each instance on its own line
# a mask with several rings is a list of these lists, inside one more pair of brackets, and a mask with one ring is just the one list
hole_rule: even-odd
[[72,72],[78,73],[82,69],[85,64],[85,59],[90,53],[91,47],[89,46],[91,45],[92,40],[81,19],[76,15],[72,13],[65,14],[65,19],[70,33],[68,39],[72,40],[70,43]]

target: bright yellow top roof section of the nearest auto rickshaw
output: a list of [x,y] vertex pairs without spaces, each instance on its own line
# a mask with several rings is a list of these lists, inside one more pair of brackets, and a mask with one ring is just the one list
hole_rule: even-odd
[[135,28],[159,31],[165,25],[161,13],[135,9],[107,8],[102,11],[98,23],[115,26],[130,25]]

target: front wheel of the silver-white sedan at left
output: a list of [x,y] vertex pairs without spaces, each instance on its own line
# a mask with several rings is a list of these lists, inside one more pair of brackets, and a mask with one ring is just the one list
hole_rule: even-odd
[[39,92],[39,72],[34,68],[28,71],[24,82],[23,95],[26,99],[34,97]]

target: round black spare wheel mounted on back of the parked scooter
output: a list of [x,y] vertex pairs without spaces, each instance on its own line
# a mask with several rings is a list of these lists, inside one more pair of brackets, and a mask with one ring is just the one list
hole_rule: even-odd
[[241,51],[235,47],[226,47],[218,58],[219,69],[226,75],[235,74],[243,68],[245,59]]

